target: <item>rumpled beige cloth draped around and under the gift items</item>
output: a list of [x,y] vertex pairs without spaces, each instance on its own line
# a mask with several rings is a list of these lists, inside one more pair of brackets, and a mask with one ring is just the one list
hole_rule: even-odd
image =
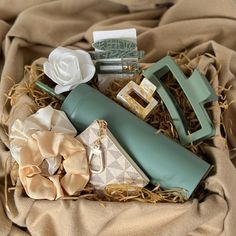
[[[115,3],[116,2],[116,3]],[[136,2],[138,10],[133,6]],[[192,199],[184,204],[137,202],[105,203],[78,201],[45,201],[28,198],[21,189],[9,194],[11,214],[4,210],[3,168],[10,153],[5,131],[16,118],[31,114],[24,96],[14,107],[5,106],[4,94],[15,82],[23,80],[23,67],[39,57],[47,57],[57,46],[90,50],[94,30],[135,27],[138,47],[146,51],[144,62],[155,62],[168,50],[188,50],[194,59],[202,55],[200,70],[214,86],[232,86],[225,92],[228,103],[236,99],[236,4],[232,0],[145,0],[150,10],[142,11],[141,1],[97,0],[2,0],[0,1],[0,235],[147,235],[199,236],[236,234],[236,103],[221,114],[213,110],[214,121],[223,117],[229,149],[217,136],[211,146],[204,147],[205,159],[216,166],[206,181],[208,195],[202,201]],[[174,3],[175,2],[175,3]],[[121,4],[122,3],[122,4]],[[158,4],[156,8],[155,4]],[[128,8],[129,5],[130,8]],[[131,9],[132,8],[132,9]],[[130,10],[132,13],[130,13]],[[204,53],[211,53],[216,59]],[[195,60],[197,63],[197,60]],[[222,65],[216,73],[218,63]],[[173,157],[174,158],[174,157]],[[183,170],[184,171],[184,170]]]

